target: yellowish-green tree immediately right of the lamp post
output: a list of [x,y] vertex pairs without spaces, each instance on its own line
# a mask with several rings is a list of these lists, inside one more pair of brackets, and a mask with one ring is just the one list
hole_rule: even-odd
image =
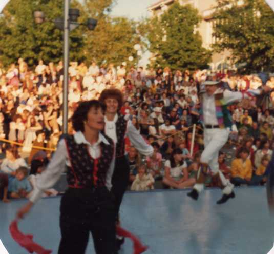
[[[111,17],[115,2],[111,0],[86,0],[85,9],[98,19],[95,31],[86,31],[85,56],[87,62],[98,64],[129,63],[129,56],[136,56],[134,45],[140,41],[136,22],[125,17]],[[137,57],[135,57],[136,63]],[[131,64],[133,64],[131,63]]]

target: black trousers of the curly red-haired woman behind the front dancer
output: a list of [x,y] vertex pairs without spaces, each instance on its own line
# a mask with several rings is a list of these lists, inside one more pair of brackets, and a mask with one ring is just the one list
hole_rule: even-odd
[[130,178],[130,165],[125,158],[118,157],[115,160],[114,172],[112,175],[112,193],[115,197],[115,212],[116,218],[118,218],[120,206],[123,199],[123,194],[127,190]]

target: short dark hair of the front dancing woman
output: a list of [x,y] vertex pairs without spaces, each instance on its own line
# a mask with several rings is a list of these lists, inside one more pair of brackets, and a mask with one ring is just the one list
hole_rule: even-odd
[[72,127],[75,131],[84,131],[84,121],[87,120],[88,112],[91,108],[101,108],[104,112],[106,107],[99,102],[98,100],[91,100],[86,102],[81,102],[76,110],[74,111],[71,121],[72,121]]

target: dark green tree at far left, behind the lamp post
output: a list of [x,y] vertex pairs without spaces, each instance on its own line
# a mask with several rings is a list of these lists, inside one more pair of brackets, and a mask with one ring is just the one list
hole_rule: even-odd
[[[0,18],[0,61],[4,65],[23,57],[32,66],[39,58],[57,62],[62,58],[62,31],[52,22],[34,23],[33,12],[44,11],[48,19],[62,16],[62,0],[11,0]],[[79,31],[71,33],[71,55],[78,55],[83,39]]]

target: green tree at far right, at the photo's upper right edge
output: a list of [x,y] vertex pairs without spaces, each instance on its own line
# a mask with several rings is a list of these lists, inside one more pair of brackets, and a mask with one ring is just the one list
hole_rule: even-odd
[[213,48],[231,52],[231,62],[243,72],[273,70],[274,13],[264,0],[218,0]]

